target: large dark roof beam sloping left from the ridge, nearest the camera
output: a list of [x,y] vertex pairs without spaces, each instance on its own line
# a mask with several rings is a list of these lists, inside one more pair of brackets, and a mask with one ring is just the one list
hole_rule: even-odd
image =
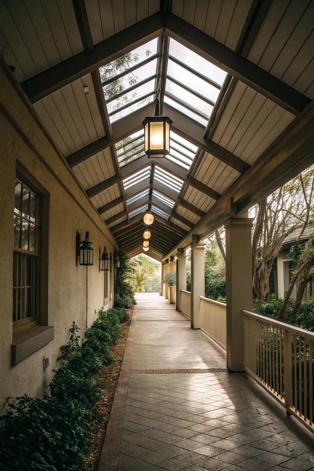
[[32,103],[68,85],[72,81],[109,64],[163,33],[163,16],[158,12],[132,24],[94,45],[22,82]]

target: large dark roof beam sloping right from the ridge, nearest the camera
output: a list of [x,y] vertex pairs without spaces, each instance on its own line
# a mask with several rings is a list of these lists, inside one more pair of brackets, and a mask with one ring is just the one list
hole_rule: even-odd
[[298,90],[172,13],[166,15],[165,32],[292,114],[310,103]]

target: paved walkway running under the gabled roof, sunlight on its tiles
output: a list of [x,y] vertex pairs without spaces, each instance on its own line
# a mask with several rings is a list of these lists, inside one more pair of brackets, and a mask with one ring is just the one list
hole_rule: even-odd
[[168,300],[137,303],[99,471],[314,470],[313,435],[224,350]]

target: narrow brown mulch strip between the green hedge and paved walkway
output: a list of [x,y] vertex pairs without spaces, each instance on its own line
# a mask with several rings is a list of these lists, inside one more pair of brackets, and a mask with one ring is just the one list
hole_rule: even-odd
[[123,324],[121,324],[123,335],[112,346],[111,354],[113,356],[113,363],[111,365],[104,366],[97,376],[102,394],[101,399],[95,405],[95,409],[99,415],[97,420],[95,420],[93,423],[91,429],[92,438],[89,444],[89,451],[86,456],[86,469],[88,471],[97,470],[100,453],[105,439],[106,428],[109,421],[109,415],[113,405],[113,397],[119,379],[133,309],[134,308],[128,309],[130,315],[129,321],[123,322]]

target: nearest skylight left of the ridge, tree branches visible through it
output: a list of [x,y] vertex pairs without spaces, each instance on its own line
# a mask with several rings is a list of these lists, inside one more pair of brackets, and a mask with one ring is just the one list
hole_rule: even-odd
[[158,39],[119,57],[99,72],[110,122],[153,101]]

